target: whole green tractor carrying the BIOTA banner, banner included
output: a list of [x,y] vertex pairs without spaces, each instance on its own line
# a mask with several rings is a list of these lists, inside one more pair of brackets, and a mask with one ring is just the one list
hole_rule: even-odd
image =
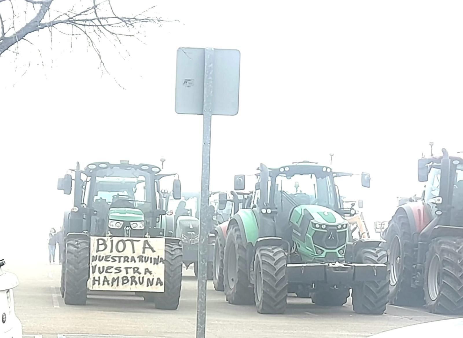
[[[135,292],[159,309],[176,309],[182,275],[180,239],[167,230],[158,166],[95,162],[58,180],[74,203],[64,213],[61,295],[85,305],[92,291]],[[74,176],[74,178],[72,177]],[[181,198],[174,179],[173,197]]]

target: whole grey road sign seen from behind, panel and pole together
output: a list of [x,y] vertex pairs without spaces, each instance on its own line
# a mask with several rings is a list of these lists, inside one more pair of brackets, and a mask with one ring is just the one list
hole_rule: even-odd
[[207,237],[212,222],[209,209],[211,120],[212,115],[238,113],[239,59],[239,51],[232,49],[177,50],[175,112],[203,115],[196,338],[206,337]]

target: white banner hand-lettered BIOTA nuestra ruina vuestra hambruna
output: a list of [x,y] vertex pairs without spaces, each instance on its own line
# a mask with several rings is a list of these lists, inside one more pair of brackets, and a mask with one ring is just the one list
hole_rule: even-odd
[[90,290],[164,292],[164,238],[90,237]]

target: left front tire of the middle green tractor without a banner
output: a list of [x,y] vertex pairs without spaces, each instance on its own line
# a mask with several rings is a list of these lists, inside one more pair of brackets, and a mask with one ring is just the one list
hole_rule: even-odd
[[259,313],[283,313],[288,297],[286,253],[281,247],[263,246],[254,260],[254,296]]

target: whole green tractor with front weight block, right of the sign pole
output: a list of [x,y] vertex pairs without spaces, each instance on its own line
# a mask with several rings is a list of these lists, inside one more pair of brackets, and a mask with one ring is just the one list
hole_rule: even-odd
[[[317,305],[342,306],[352,290],[353,310],[382,314],[388,302],[383,241],[351,240],[335,178],[352,175],[300,163],[269,169],[261,164],[247,207],[228,222],[223,285],[231,304],[260,313],[283,313],[288,293]],[[235,190],[244,189],[235,176]],[[370,177],[362,173],[362,185]],[[341,216],[343,215],[343,216]]]

